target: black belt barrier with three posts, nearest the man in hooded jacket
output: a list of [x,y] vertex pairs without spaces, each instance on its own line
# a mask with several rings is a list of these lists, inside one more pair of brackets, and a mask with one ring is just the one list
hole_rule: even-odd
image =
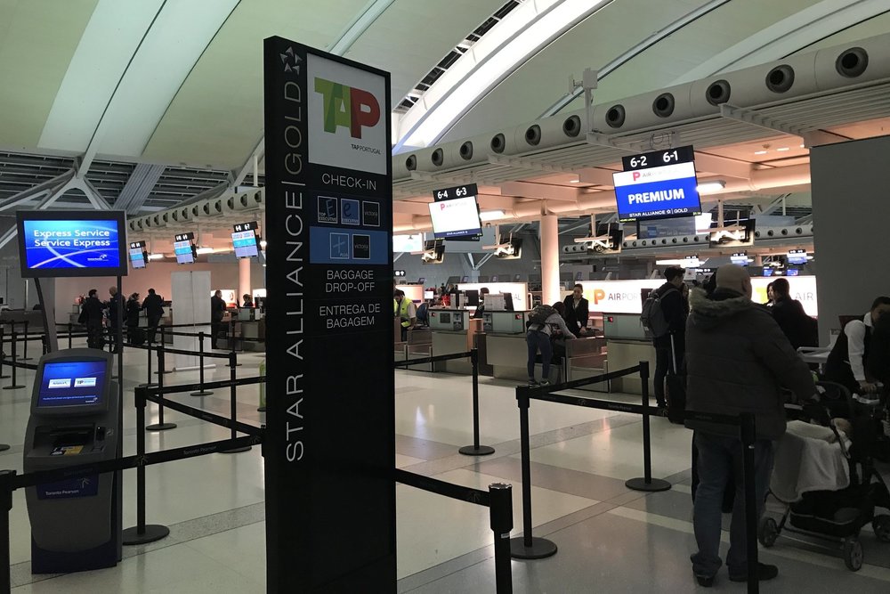
[[[642,380],[642,403],[616,403],[607,400],[587,398],[586,396],[557,394],[574,387],[588,386],[611,379],[629,375],[640,375]],[[624,370],[612,371],[592,378],[575,379],[554,386],[519,386],[516,387],[516,401],[519,405],[520,442],[522,451],[522,537],[510,541],[510,554],[518,559],[541,559],[556,554],[553,541],[532,535],[531,521],[531,462],[529,409],[531,400],[542,400],[552,403],[570,404],[603,411],[627,412],[643,416],[643,473],[641,478],[627,480],[628,489],[644,492],[667,491],[671,484],[651,476],[651,430],[649,416],[652,408],[649,403],[649,362],[641,361],[639,365]],[[754,484],[754,448],[756,442],[756,423],[753,414],[742,413],[739,416],[719,415],[705,412],[686,411],[686,420],[700,420],[711,423],[739,427],[742,449],[744,483],[745,483],[745,533],[748,539],[748,593],[760,591],[757,563],[757,506]]]

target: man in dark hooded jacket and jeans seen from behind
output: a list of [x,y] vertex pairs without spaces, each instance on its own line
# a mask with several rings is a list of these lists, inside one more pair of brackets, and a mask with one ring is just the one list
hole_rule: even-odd
[[[785,433],[788,388],[798,400],[816,392],[809,368],[795,353],[769,311],[751,301],[748,272],[735,264],[717,269],[716,289],[708,297],[694,289],[686,324],[686,407],[689,411],[736,416],[753,413],[756,421],[755,490],[758,516],[773,469],[773,440]],[[699,550],[691,556],[692,572],[702,586],[711,586],[720,558],[721,504],[730,477],[736,485],[732,509],[729,578],[748,577],[745,498],[742,492],[742,443],[738,427],[686,421],[695,430],[700,484],[692,525]],[[776,566],[759,564],[761,580],[779,574]]]

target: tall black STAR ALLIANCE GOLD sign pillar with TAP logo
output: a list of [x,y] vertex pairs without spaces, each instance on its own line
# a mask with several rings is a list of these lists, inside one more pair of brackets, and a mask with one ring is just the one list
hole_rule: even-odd
[[396,590],[389,74],[265,40],[270,592]]

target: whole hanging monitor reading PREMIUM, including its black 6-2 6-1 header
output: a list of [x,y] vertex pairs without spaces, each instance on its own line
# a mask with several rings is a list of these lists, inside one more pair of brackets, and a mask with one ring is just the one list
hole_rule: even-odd
[[692,146],[621,159],[612,174],[622,222],[701,214]]

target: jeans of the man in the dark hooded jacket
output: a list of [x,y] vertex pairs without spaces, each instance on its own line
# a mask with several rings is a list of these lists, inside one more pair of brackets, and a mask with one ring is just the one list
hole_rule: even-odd
[[[720,522],[724,490],[735,478],[735,501],[732,506],[729,553],[726,565],[731,575],[748,571],[748,549],[745,534],[745,479],[742,471],[742,444],[738,437],[695,432],[699,449],[699,488],[695,493],[692,525],[699,552],[692,555],[692,571],[712,576],[722,564],[720,560]],[[757,517],[764,513],[766,491],[773,472],[773,442],[758,440],[754,445],[754,488]]]

